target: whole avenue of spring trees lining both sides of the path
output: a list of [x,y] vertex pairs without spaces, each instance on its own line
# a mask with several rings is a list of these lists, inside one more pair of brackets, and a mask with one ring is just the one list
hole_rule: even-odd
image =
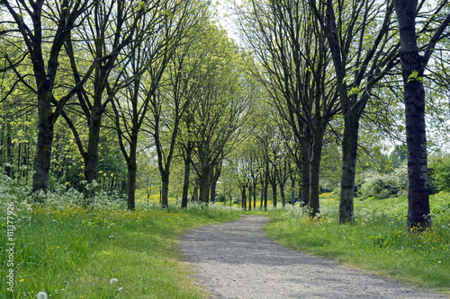
[[216,9],[0,0],[2,175],[37,202],[119,191],[130,210],[142,189],[316,216],[334,190],[340,223],[356,196],[401,194],[408,229],[430,226],[450,189],[450,3],[244,0],[238,41]]

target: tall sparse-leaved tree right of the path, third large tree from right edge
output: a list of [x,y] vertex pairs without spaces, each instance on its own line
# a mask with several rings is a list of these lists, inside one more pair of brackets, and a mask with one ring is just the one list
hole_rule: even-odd
[[292,130],[297,145],[291,152],[296,152],[302,171],[302,201],[316,215],[323,136],[338,112],[325,35],[307,4],[250,1],[247,11],[239,12],[241,31],[261,66],[251,69]]

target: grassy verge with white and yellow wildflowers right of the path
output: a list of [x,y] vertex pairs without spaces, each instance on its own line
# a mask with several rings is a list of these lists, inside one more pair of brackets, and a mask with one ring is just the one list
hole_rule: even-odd
[[450,294],[448,194],[431,198],[433,229],[425,233],[406,233],[404,198],[357,200],[355,205],[355,224],[339,225],[338,200],[322,198],[319,218],[311,219],[300,207],[272,210],[265,230],[300,251]]

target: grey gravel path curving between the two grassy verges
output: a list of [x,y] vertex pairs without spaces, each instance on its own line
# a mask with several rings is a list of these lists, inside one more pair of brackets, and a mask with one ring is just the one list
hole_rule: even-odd
[[181,250],[214,298],[448,298],[285,248],[263,233],[268,221],[242,215],[184,234]]

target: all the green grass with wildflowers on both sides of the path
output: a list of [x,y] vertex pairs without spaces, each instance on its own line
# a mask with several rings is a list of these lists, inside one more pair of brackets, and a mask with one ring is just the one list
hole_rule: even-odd
[[[175,206],[161,211],[158,198],[138,200],[127,212],[120,198],[98,196],[89,210],[81,195],[49,197],[46,206],[6,198],[0,206],[0,298],[205,298],[178,251],[188,229],[269,215],[266,233],[287,246],[450,294],[450,196],[431,197],[433,230],[406,232],[404,198],[356,200],[355,224],[337,223],[338,200],[322,195],[319,218],[299,207],[244,212],[223,206]],[[141,197],[142,198],[142,197]],[[14,202],[14,294],[7,292],[6,205]],[[111,283],[111,279],[117,281]]]

